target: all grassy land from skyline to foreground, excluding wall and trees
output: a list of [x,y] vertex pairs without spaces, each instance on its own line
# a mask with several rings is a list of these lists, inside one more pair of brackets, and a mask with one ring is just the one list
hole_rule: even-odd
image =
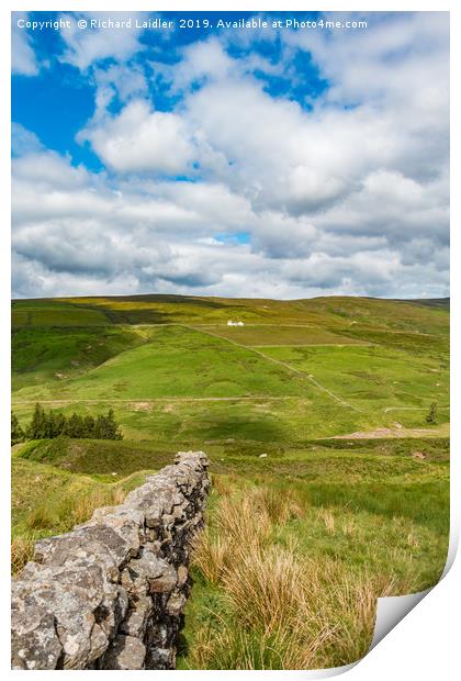
[[449,532],[443,301],[140,295],[14,301],[12,315],[21,424],[36,401],[66,414],[111,406],[124,434],[14,448],[13,567],[34,538],[123,499],[142,471],[204,449],[214,487],[181,668],[347,663],[370,643],[378,595],[437,581]]

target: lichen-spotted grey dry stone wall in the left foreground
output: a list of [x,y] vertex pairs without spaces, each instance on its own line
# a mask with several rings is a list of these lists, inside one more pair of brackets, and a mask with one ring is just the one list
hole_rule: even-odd
[[203,451],[179,453],[123,504],[37,542],[12,583],[12,668],[175,669],[209,488]]

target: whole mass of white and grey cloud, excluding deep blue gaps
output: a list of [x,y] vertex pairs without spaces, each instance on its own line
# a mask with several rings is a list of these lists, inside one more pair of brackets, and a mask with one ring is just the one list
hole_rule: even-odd
[[[420,14],[284,33],[276,65],[193,44],[162,67],[171,112],[139,67],[94,68],[79,141],[108,174],[40,148],[14,161],[16,294],[447,294],[448,22]],[[300,48],[330,82],[312,110],[254,76],[286,76]]]

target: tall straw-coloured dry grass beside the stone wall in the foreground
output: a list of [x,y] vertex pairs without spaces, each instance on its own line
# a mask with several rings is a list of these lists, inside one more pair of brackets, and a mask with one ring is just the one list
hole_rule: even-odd
[[[313,669],[346,665],[371,643],[379,595],[392,579],[301,554],[277,529],[302,515],[289,494],[258,488],[226,495],[199,537],[193,565],[218,589],[220,609],[199,626],[189,662],[205,669]],[[334,518],[318,516],[329,533]]]

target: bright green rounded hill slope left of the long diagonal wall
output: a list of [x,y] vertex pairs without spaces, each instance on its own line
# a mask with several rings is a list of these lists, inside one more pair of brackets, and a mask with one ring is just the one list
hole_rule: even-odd
[[37,399],[312,395],[312,387],[251,350],[180,326],[158,327],[149,342],[59,386],[19,393]]

